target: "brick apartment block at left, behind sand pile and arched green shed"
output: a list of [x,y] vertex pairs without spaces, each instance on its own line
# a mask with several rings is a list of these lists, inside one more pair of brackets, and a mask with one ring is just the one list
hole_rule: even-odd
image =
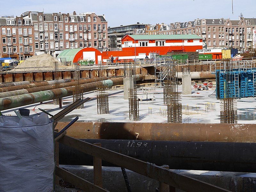
[[108,48],[108,22],[95,13],[25,12],[0,18],[0,57],[24,60],[49,53],[57,56],[72,48]]

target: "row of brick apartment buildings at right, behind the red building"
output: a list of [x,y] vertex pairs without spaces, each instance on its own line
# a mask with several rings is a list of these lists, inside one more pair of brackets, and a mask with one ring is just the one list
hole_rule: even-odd
[[250,50],[253,44],[253,30],[256,19],[196,19],[188,22],[175,22],[170,25],[156,24],[137,30],[136,34],[175,35],[196,34],[204,39],[204,48],[237,48],[240,52]]

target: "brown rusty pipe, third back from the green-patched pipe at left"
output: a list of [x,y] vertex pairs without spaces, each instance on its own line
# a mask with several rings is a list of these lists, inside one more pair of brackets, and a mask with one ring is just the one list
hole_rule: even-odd
[[[70,82],[70,79],[59,80],[59,83],[66,83],[66,82]],[[32,87],[40,87],[40,86],[52,85],[52,84],[55,84],[55,81],[43,81],[39,83],[30,83],[30,84],[22,84],[22,85],[16,85],[11,87],[2,87],[0,88],[0,92],[16,91],[20,89],[28,89]]]

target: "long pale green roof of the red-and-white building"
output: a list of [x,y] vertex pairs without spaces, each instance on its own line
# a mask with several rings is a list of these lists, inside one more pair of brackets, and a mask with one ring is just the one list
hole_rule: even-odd
[[136,40],[154,40],[154,39],[203,39],[198,35],[129,35]]

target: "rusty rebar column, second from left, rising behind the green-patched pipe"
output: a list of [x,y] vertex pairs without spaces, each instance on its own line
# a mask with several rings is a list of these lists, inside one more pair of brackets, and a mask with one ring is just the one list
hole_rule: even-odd
[[[83,94],[83,89],[81,88],[80,84],[80,68],[78,62],[75,65],[75,74],[76,74],[76,85],[73,90],[73,102],[76,100],[83,100],[84,99],[84,94]],[[84,104],[79,105],[76,109],[83,109]]]

